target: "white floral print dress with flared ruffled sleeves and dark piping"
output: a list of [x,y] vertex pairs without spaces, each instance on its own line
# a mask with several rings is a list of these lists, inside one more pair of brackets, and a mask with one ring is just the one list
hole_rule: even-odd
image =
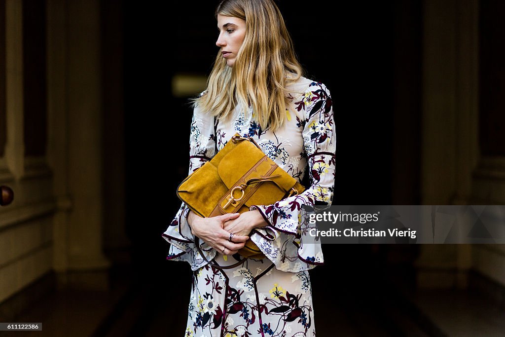
[[[195,108],[190,133],[189,173],[209,161],[236,132],[252,137],[263,152],[301,181],[309,162],[311,185],[300,195],[274,205],[256,205],[269,223],[256,228],[251,240],[263,260],[222,255],[206,243],[200,255],[187,223],[183,203],[163,237],[171,244],[168,260],[187,261],[193,270],[185,336],[314,336],[314,310],[309,269],[323,264],[319,242],[300,225],[302,205],[331,205],[335,179],[335,133],[331,95],[323,83],[299,78],[288,86],[290,104],[285,126],[263,128],[251,109],[236,108],[228,122]],[[216,134],[215,134],[216,133]],[[217,144],[216,144],[217,142]],[[305,244],[304,244],[305,243]]]

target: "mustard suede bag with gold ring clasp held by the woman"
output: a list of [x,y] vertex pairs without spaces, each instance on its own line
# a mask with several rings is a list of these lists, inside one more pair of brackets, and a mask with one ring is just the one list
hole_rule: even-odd
[[[304,190],[252,138],[236,133],[211,161],[181,182],[177,196],[201,217],[213,217],[247,212],[252,205],[272,205]],[[265,258],[250,239],[238,253],[244,258]]]

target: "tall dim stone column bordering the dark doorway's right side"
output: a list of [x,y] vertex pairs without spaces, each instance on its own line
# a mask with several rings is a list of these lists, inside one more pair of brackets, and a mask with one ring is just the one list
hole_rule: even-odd
[[[471,203],[478,153],[478,1],[427,0],[423,8],[421,203]],[[470,245],[423,245],[420,287],[468,283]]]

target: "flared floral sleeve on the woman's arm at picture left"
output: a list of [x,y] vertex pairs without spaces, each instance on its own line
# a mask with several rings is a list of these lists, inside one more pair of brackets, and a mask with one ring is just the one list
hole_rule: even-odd
[[[202,93],[203,94],[203,93]],[[201,95],[201,94],[200,94]],[[189,173],[204,165],[215,155],[214,117],[201,112],[198,107],[193,111],[191,131],[189,136]],[[194,235],[187,222],[189,208],[182,203],[175,218],[162,234],[170,243],[167,260],[187,261],[192,270],[197,270],[207,264],[194,244]],[[200,245],[207,260],[216,255],[215,250],[203,243]]]

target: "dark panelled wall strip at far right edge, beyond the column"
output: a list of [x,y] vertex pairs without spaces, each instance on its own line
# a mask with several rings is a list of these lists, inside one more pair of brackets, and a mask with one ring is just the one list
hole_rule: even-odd
[[[479,8],[479,149],[478,166],[472,176],[472,200],[476,204],[505,205],[505,33],[502,2],[481,2]],[[474,284],[502,302],[505,286],[503,245],[474,245],[473,267],[483,275]],[[491,281],[489,281],[491,280]],[[493,284],[494,283],[494,284]],[[493,288],[498,284],[498,291]]]

